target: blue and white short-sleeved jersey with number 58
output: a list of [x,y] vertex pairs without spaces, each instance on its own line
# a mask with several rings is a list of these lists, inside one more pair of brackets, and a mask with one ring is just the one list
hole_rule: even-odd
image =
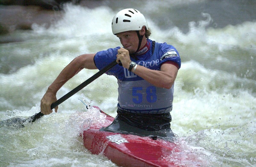
[[[149,39],[148,42],[150,49],[144,54],[131,56],[133,62],[153,70],[160,70],[161,65],[168,62],[180,69],[180,56],[172,45],[157,42],[153,44],[154,42]],[[119,48],[110,48],[98,52],[94,56],[96,67],[101,70],[116,60]],[[117,78],[117,107],[119,109],[132,113],[167,113],[172,111],[173,85],[171,89],[156,87],[119,65],[114,66],[106,74]]]

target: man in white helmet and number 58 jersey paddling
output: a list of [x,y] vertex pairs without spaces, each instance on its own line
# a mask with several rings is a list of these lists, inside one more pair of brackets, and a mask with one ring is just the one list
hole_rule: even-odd
[[119,11],[112,20],[112,32],[123,48],[76,57],[49,86],[41,100],[41,112],[52,113],[50,106],[57,100],[57,91],[81,69],[103,69],[116,60],[119,65],[106,73],[117,78],[117,116],[102,130],[173,137],[170,112],[174,80],[181,64],[178,51],[166,43],[149,40],[147,21],[135,9]]

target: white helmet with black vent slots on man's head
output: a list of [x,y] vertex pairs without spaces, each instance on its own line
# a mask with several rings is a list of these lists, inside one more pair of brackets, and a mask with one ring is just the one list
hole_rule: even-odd
[[142,26],[148,29],[145,17],[136,9],[119,11],[112,20],[112,32],[114,35],[125,31],[139,31]]

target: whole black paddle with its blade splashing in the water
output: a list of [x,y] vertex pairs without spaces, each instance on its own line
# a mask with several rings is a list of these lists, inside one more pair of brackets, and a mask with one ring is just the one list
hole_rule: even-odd
[[[60,105],[62,102],[64,102],[65,100],[67,100],[68,98],[70,98],[71,96],[73,96],[75,93],[77,93],[78,91],[80,91],[81,89],[83,89],[85,86],[87,86],[89,83],[91,83],[92,81],[94,81],[95,79],[97,79],[99,76],[101,76],[102,74],[104,74],[105,72],[107,72],[109,69],[111,69],[112,67],[114,67],[117,64],[116,60],[111,62],[109,65],[107,65],[106,67],[104,67],[103,69],[101,69],[99,72],[97,72],[96,74],[94,74],[93,76],[91,76],[89,79],[87,79],[86,81],[84,81],[83,83],[81,83],[80,85],[78,85],[75,89],[73,89],[72,91],[68,92],[66,95],[64,95],[63,97],[61,97],[59,100],[55,101],[54,103],[52,103],[51,105],[51,110],[53,108],[55,108],[56,106]],[[21,125],[15,125],[14,127],[24,127],[23,123],[26,121],[29,122],[35,122],[37,119],[41,118],[42,116],[44,116],[43,113],[39,112],[36,113],[35,115],[21,120],[20,118],[12,118],[9,120],[4,120],[3,122],[1,121],[1,124],[4,124],[6,122],[14,122],[14,123],[20,123]]]

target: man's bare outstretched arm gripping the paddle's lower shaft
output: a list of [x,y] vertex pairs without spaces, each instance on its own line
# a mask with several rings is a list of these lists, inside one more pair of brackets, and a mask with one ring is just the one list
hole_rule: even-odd
[[[48,87],[48,90],[41,99],[41,113],[47,115],[52,113],[51,104],[57,100],[57,91],[73,76],[82,69],[97,69],[93,57],[95,54],[82,54],[70,62],[59,74],[59,76]],[[58,107],[55,108],[57,112]]]

